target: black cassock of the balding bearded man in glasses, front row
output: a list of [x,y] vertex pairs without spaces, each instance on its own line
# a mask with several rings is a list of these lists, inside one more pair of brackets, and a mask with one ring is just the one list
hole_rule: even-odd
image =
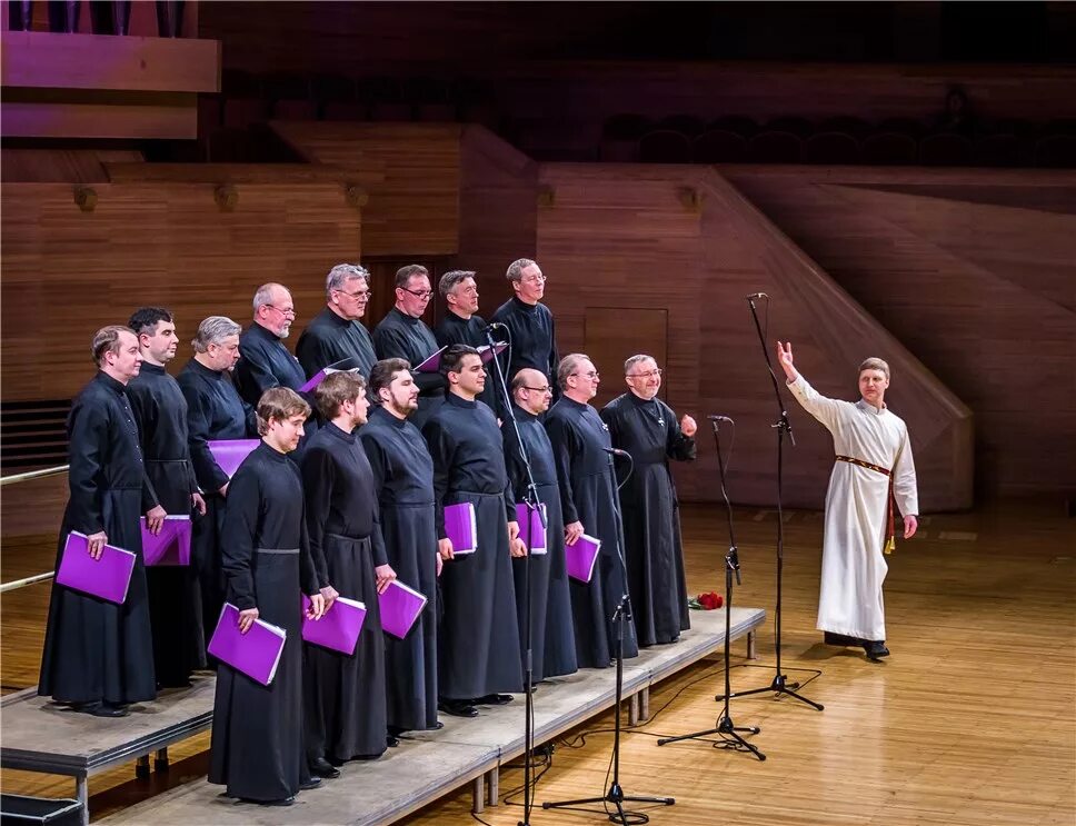
[[[530,644],[532,653],[534,679],[557,677],[571,674],[577,669],[576,639],[571,629],[571,596],[568,590],[568,573],[565,567],[565,520],[560,514],[560,488],[557,485],[557,466],[552,457],[552,446],[541,420],[514,406],[519,437],[522,439],[530,459],[530,469],[538,488],[538,498],[546,506],[546,553],[526,559],[512,559],[512,575],[516,580],[516,609],[519,615],[520,648],[526,650],[524,636],[527,588],[524,581],[530,580]],[[508,479],[516,494],[516,501],[522,502],[527,492],[527,470],[519,450],[519,441],[510,421],[501,427],[505,437],[505,462]],[[538,516],[532,515],[537,521]],[[520,533],[527,528],[519,523]],[[530,543],[524,539],[528,550]]]

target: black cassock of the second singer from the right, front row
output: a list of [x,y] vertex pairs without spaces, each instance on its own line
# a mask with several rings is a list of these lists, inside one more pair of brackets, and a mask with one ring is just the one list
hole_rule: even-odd
[[[575,615],[576,656],[580,667],[605,668],[615,654],[612,613],[624,595],[624,566],[617,551],[622,538],[617,516],[617,486],[609,431],[590,405],[567,397],[546,416],[546,432],[557,461],[557,481],[565,524],[582,523],[587,535],[601,540],[601,550],[589,583],[570,581]],[[635,624],[624,625],[624,656],[639,653]]]

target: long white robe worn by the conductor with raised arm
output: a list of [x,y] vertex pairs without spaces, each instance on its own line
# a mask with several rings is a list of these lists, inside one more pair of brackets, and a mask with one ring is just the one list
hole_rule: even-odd
[[[820,396],[803,376],[788,389],[833,434],[838,456],[889,468],[900,514],[919,512],[915,462],[903,419],[863,399],[853,404]],[[883,554],[888,495],[889,478],[884,474],[847,461],[834,464],[826,494],[819,630],[885,640],[881,584],[888,570]]]

